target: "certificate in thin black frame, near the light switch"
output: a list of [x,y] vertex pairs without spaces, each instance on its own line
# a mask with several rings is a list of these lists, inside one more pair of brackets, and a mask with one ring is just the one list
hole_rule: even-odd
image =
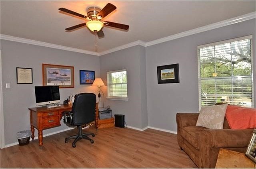
[[17,84],[33,84],[31,68],[16,67]]

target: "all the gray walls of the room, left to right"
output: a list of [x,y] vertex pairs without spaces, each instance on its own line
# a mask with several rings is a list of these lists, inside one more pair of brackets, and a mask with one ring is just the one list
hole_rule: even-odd
[[[103,56],[63,51],[1,40],[5,144],[16,142],[16,132],[30,128],[28,107],[35,106],[34,86],[42,85],[42,63],[74,66],[75,88],[60,89],[61,101],[70,94],[97,92],[95,86],[79,85],[79,70],[94,70],[106,82],[106,72],[127,69],[128,101],[106,100],[114,114],[124,114],[128,126],[147,126],[176,131],[177,112],[198,112],[197,45],[253,35],[256,79],[255,19],[180,39],[142,47],[140,45]],[[156,67],[179,63],[180,83],[157,84]],[[32,85],[16,84],[16,67],[33,69]],[[254,100],[256,83],[254,80]],[[102,86],[105,97],[107,86]],[[44,130],[44,134],[64,130]],[[37,131],[36,131],[37,132]],[[37,134],[36,134],[37,136]]]

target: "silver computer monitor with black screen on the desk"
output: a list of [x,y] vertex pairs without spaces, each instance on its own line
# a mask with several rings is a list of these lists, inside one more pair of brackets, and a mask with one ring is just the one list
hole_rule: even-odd
[[59,86],[35,86],[36,106],[60,102]]

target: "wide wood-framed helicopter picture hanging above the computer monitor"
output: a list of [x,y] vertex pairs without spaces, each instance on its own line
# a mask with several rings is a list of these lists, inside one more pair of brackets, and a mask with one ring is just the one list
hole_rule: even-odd
[[74,67],[42,64],[44,86],[74,88]]

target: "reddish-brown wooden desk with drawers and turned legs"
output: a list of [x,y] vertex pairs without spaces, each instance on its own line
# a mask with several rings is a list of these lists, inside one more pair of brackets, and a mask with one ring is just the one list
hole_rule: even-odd
[[[34,141],[34,132],[38,130],[39,146],[43,145],[43,130],[60,126],[62,112],[71,111],[72,104],[61,104],[61,106],[54,108],[34,107],[28,108],[30,110],[30,130],[32,132],[32,140]],[[98,112],[98,103],[96,103],[96,112]],[[98,121],[98,116],[95,113],[95,125]],[[97,125],[96,125],[97,128]]]

